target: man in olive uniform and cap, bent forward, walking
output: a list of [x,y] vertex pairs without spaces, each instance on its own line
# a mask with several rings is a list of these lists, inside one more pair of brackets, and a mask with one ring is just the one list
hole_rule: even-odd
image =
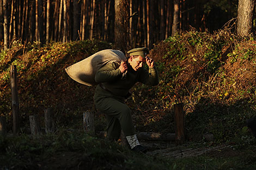
[[[132,150],[147,152],[147,148],[139,144],[135,127],[132,122],[131,110],[124,103],[129,97],[129,90],[137,82],[147,85],[159,84],[154,60],[149,58],[148,48],[135,48],[127,52],[129,58],[121,62],[109,62],[97,70],[95,82],[94,103],[107,118],[107,137],[109,140],[118,140],[123,130]],[[143,68],[143,64],[149,70]]]

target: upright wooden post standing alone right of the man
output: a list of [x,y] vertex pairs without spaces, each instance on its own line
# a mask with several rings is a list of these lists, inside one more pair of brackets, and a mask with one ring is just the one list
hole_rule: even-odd
[[185,123],[183,103],[174,104],[175,142],[181,144],[185,141]]

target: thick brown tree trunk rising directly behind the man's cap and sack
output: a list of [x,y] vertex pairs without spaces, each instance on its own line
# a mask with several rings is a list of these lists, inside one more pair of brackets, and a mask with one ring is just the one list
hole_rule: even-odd
[[126,33],[125,33],[125,7],[124,0],[115,0],[115,23],[114,23],[114,41],[117,49],[126,51]]

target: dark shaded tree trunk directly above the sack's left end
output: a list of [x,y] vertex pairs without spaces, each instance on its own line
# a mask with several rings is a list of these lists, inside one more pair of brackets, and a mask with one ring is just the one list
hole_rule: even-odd
[[74,9],[74,15],[73,15],[73,37],[72,40],[76,41],[78,39],[78,32],[80,29],[80,15],[79,15],[79,0],[74,0],[73,3],[73,9]]

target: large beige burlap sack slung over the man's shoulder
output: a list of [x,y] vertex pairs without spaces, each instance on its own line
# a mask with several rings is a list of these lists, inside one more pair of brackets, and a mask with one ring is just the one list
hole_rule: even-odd
[[108,63],[121,61],[126,61],[123,52],[119,50],[105,49],[65,68],[65,71],[78,83],[93,86],[97,85],[94,78],[99,68]]

